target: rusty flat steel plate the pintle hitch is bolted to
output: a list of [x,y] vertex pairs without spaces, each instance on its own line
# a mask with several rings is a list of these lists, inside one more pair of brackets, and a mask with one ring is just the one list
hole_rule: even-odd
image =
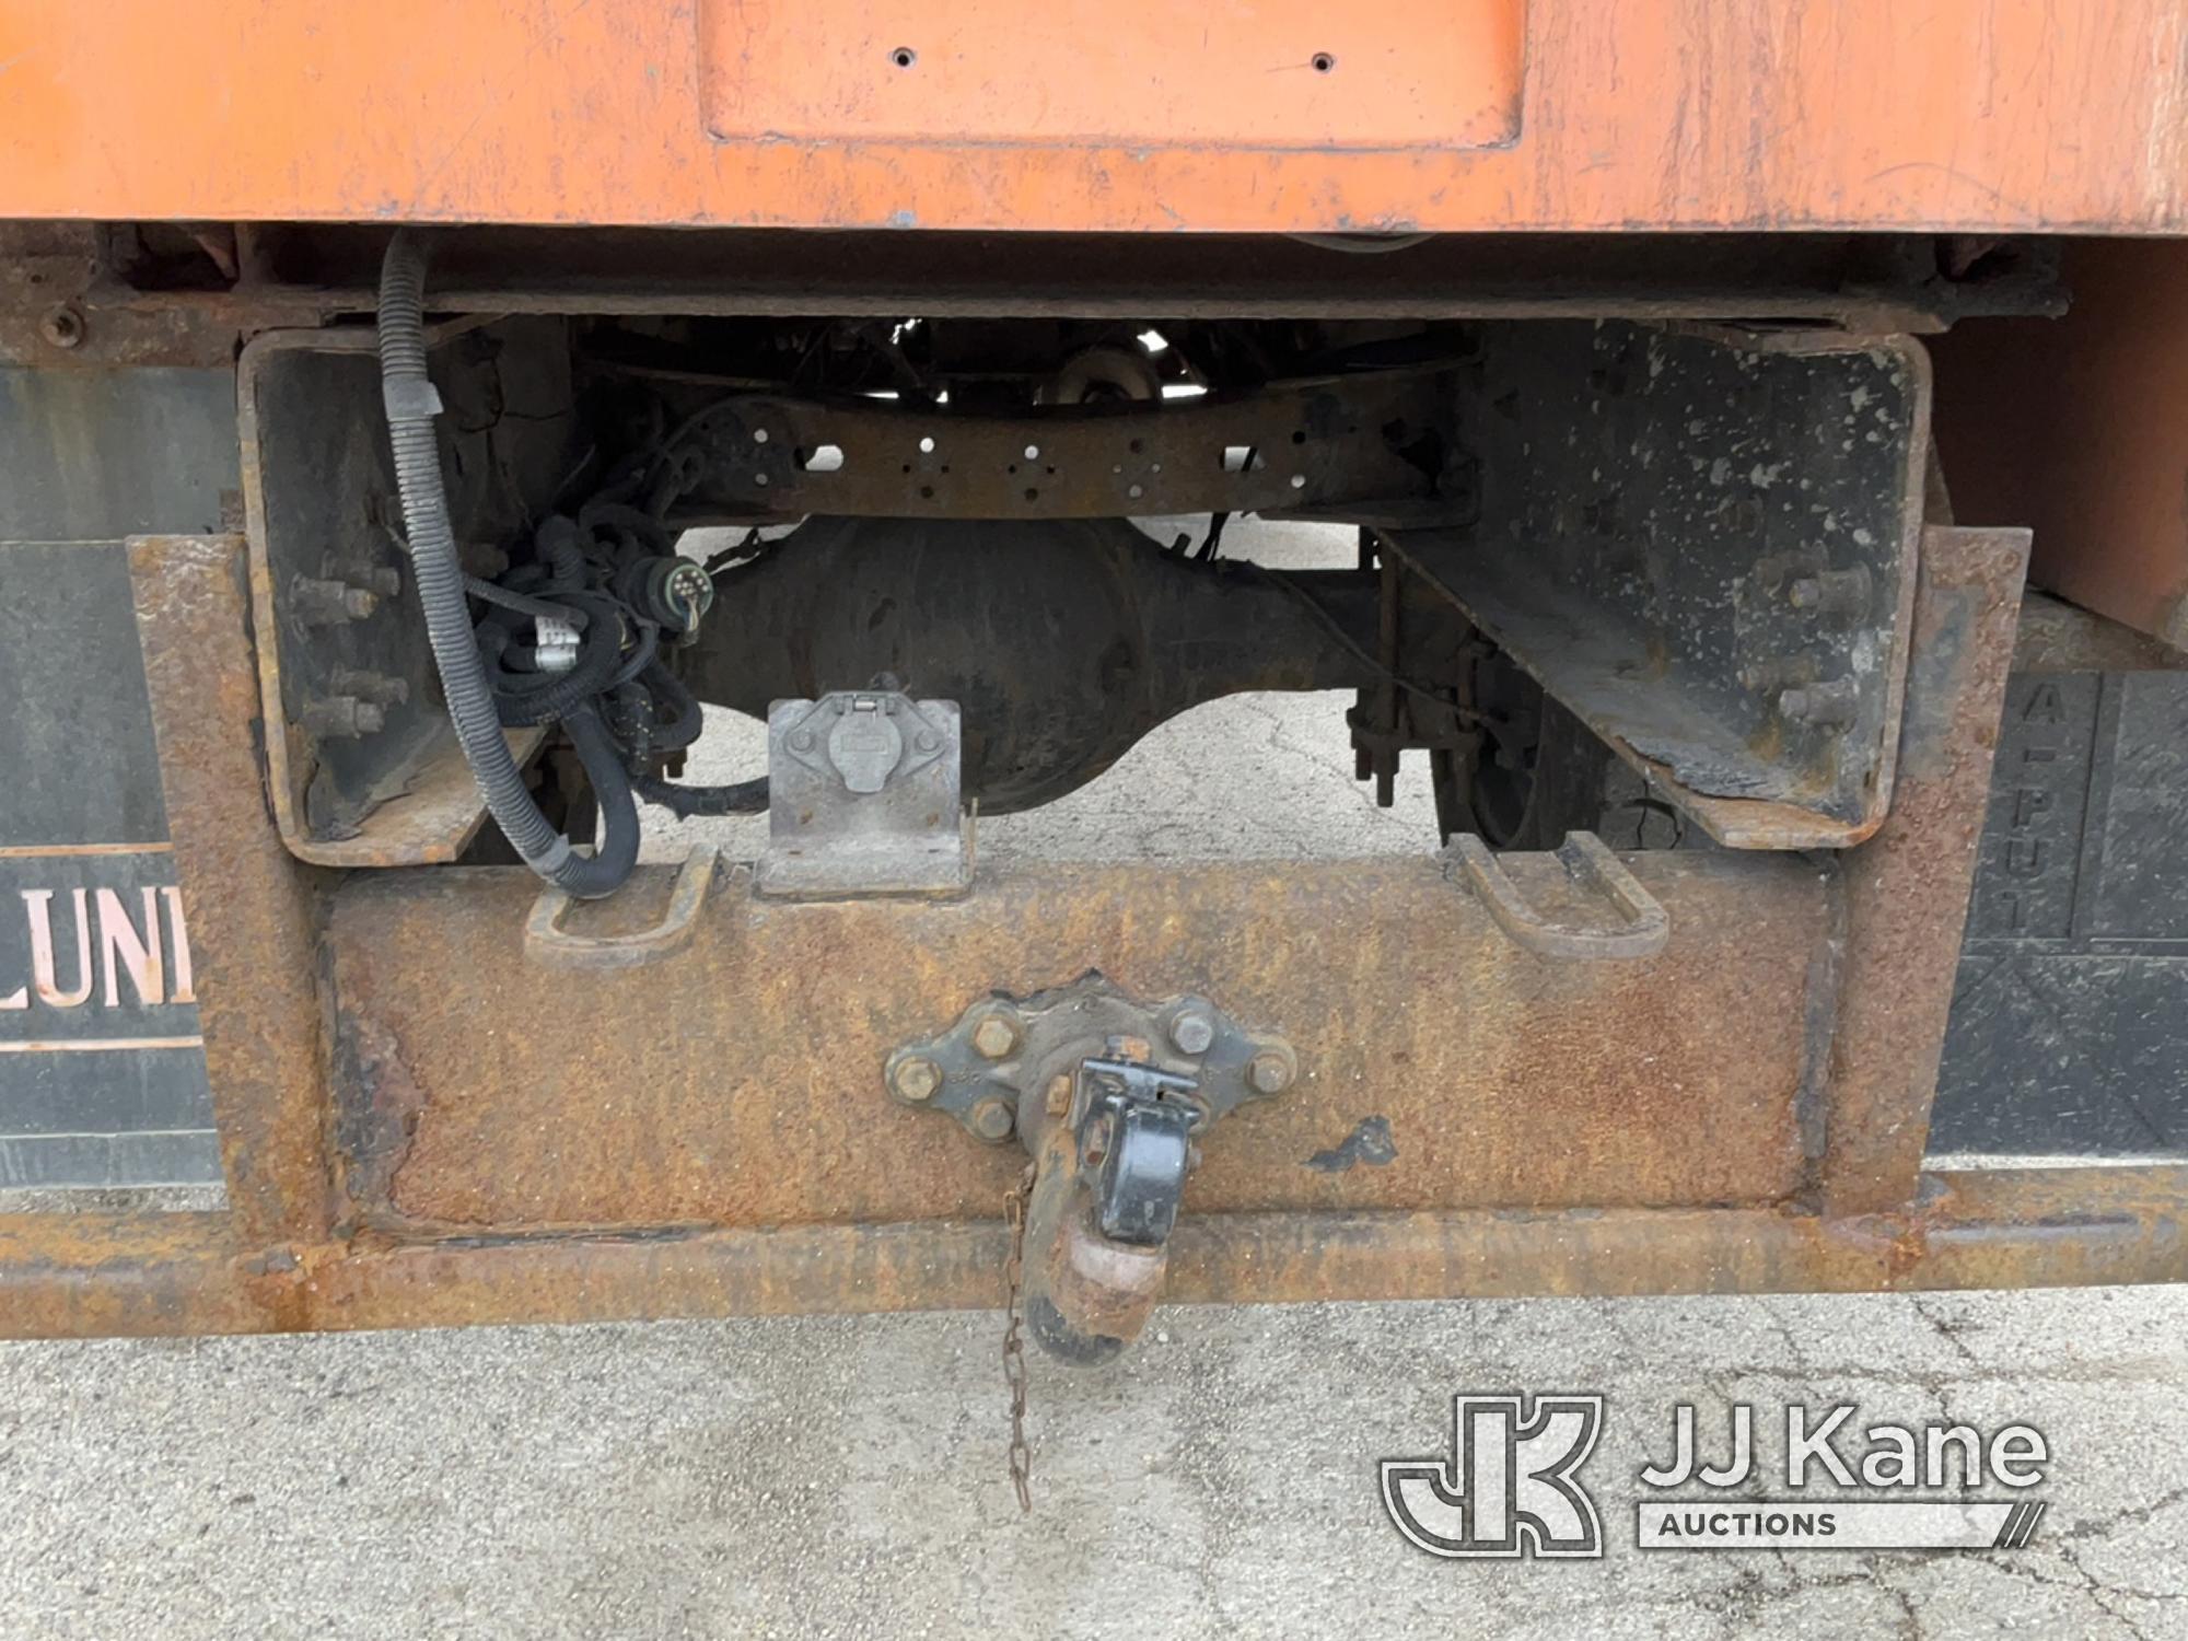
[[[1503,864],[1547,915],[1597,915],[1556,856]],[[370,1050],[335,1076],[354,1206],[396,1232],[989,1214],[1024,1157],[891,1101],[882,1066],[996,987],[1090,967],[1300,1048],[1297,1096],[1223,1125],[1188,1214],[1779,1201],[1805,1184],[1823,886],[1788,858],[1628,866],[1672,926],[1630,963],[1521,952],[1455,869],[1396,858],[1022,866],[945,906],[733,880],[685,950],[624,971],[525,963],[519,869],[352,877],[326,939],[337,1037]],[[648,928],[672,884],[641,869],[567,921]],[[1407,1136],[1392,1166],[1297,1166],[1370,1116]]]

